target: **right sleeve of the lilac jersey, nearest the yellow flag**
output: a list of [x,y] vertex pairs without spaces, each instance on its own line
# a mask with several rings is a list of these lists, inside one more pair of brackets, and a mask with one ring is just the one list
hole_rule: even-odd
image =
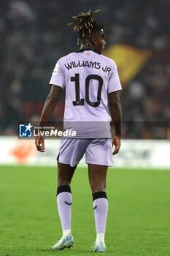
[[122,86],[120,83],[117,66],[116,66],[115,62],[113,61],[112,73],[109,78],[107,93],[109,94],[110,92],[120,91],[120,90],[122,90]]

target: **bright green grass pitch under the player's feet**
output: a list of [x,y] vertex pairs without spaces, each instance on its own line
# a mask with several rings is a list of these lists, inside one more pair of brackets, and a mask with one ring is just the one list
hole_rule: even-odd
[[[56,168],[0,166],[0,255],[93,255],[95,225],[88,171],[72,181],[74,247],[51,251],[61,238]],[[107,255],[170,255],[170,171],[109,168]],[[101,254],[100,254],[101,255]]]

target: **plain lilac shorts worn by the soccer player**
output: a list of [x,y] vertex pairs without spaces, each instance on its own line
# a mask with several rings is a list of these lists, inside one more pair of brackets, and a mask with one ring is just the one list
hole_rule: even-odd
[[58,162],[74,167],[84,154],[86,164],[112,166],[112,139],[61,139]]

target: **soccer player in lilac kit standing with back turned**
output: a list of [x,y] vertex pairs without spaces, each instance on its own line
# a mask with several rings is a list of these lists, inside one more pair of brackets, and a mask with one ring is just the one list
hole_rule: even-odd
[[[117,154],[120,149],[121,85],[115,62],[101,55],[106,44],[104,27],[93,20],[94,13],[90,14],[90,10],[81,13],[69,23],[74,24],[74,31],[78,31],[80,50],[63,56],[55,65],[50,94],[39,123],[40,127],[47,123],[61,90],[66,87],[64,129],[76,130],[77,135],[61,138],[59,147],[57,203],[63,236],[52,247],[54,250],[70,248],[74,244],[70,184],[74,170],[85,154],[96,225],[96,241],[92,249],[94,252],[107,251],[104,242],[108,211],[106,176],[108,166],[113,163],[112,154]],[[110,134],[111,119],[115,123],[114,138]],[[38,151],[45,151],[42,136],[36,137],[35,143]],[[115,150],[112,152],[113,145]]]

